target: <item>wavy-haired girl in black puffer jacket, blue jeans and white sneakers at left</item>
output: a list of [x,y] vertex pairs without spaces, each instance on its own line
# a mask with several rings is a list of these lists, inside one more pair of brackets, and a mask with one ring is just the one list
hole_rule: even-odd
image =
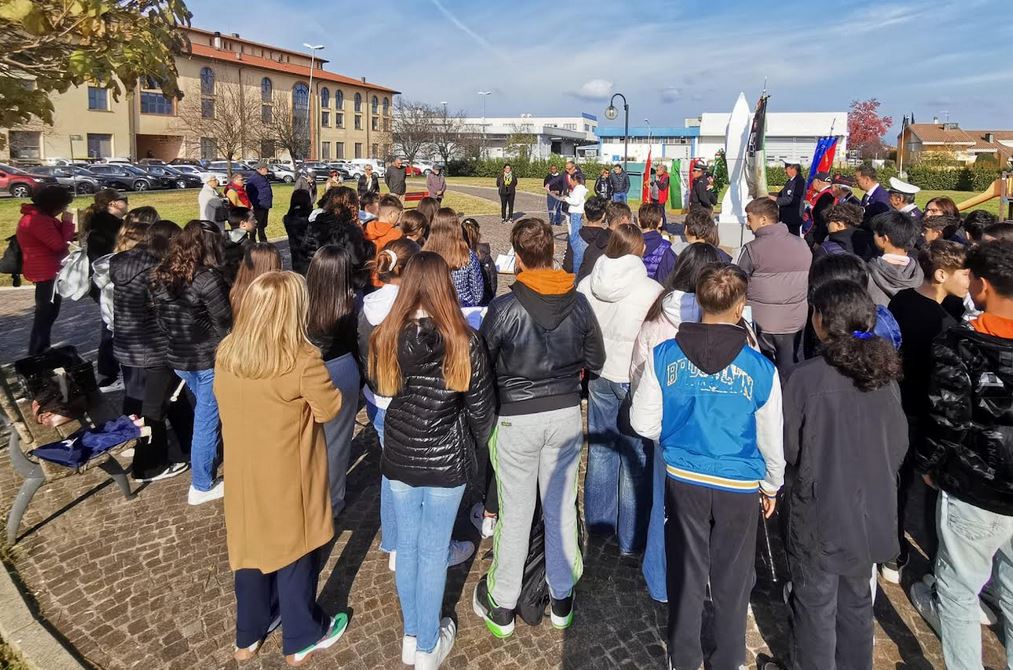
[[169,252],[151,272],[149,289],[155,318],[165,333],[166,362],[186,382],[197,400],[190,443],[190,505],[224,494],[215,478],[218,451],[218,401],[215,350],[232,327],[229,289],[218,267],[222,235],[211,221],[192,220],[169,242]]

